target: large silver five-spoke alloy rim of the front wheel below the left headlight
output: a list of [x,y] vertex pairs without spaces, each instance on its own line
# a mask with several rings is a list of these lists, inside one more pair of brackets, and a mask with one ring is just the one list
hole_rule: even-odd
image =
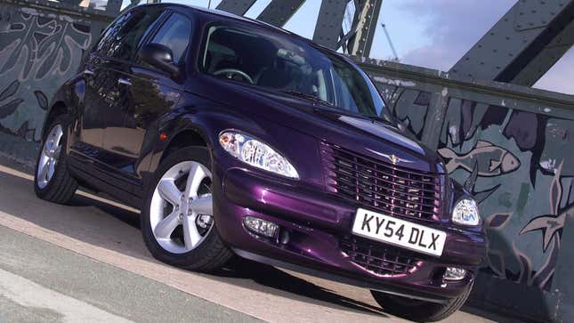
[[214,226],[211,172],[195,161],[172,166],[158,182],[150,203],[154,238],[166,251],[197,248]]

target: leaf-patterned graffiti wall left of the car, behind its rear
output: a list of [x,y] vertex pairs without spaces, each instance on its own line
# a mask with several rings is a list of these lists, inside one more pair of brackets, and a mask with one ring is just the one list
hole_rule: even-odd
[[0,140],[15,142],[16,149],[19,141],[6,134],[15,136],[31,142],[24,144],[29,149],[40,140],[53,93],[76,73],[92,43],[94,22],[99,26],[109,18],[86,18],[86,12],[99,9],[85,1],[85,8],[77,5],[77,15],[70,13],[71,4],[62,4],[68,5],[65,14],[56,3],[45,8],[5,0],[0,4]]

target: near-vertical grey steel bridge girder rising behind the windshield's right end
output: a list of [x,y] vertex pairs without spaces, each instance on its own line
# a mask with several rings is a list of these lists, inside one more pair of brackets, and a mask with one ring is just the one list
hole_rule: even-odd
[[370,54],[382,4],[383,0],[362,0],[360,6],[356,6],[360,11],[359,23],[355,35],[349,40],[350,54],[363,57]]

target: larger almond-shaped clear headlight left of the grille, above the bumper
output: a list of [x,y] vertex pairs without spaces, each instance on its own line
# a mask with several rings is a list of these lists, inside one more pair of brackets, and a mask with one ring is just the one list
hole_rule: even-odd
[[231,156],[268,172],[299,179],[295,167],[275,149],[245,133],[226,131],[219,135],[219,143]]

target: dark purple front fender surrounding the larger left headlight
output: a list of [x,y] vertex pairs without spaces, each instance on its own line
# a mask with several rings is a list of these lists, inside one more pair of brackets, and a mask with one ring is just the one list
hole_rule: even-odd
[[[186,106],[176,108],[160,118],[157,132],[152,132],[157,135],[154,136],[155,143],[152,144],[154,152],[149,167],[150,174],[158,169],[162,157],[166,154],[166,149],[178,134],[197,133],[202,141],[206,142],[214,161],[217,161],[229,157],[218,143],[219,133],[223,130],[235,129],[248,133],[269,144],[273,149],[277,149],[294,164],[302,182],[324,190],[325,182],[322,176],[319,145],[314,137],[264,117],[247,115],[241,110],[222,106],[214,101],[199,102],[197,98],[195,99],[196,104],[190,104],[190,100],[183,100],[188,102]],[[161,141],[159,139],[161,133],[166,133],[168,140]],[[255,169],[254,171],[262,172]]]

